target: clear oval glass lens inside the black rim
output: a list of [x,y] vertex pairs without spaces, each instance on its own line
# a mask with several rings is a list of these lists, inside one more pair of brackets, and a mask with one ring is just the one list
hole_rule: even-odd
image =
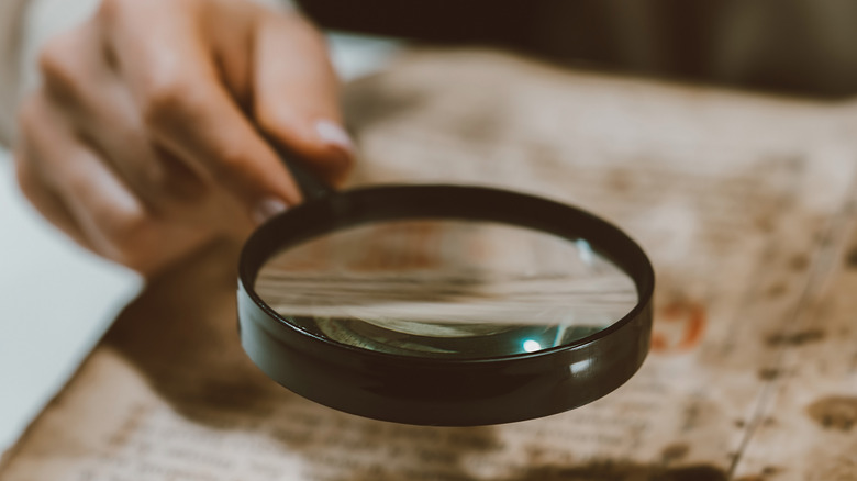
[[255,289],[315,336],[456,359],[568,345],[638,303],[634,280],[583,238],[459,220],[322,235],[271,256]]

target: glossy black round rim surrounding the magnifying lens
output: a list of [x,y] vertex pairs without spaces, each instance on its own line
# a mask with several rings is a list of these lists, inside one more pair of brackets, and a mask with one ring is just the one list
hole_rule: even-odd
[[[500,222],[585,238],[634,281],[637,305],[575,343],[491,358],[369,351],[314,335],[255,292],[267,259],[315,236],[393,220]],[[326,406],[405,424],[474,426],[543,417],[592,402],[627,381],[648,354],[655,275],[624,232],[586,211],[486,187],[380,186],[311,200],[265,223],[238,266],[238,326],[245,353],[269,378]]]

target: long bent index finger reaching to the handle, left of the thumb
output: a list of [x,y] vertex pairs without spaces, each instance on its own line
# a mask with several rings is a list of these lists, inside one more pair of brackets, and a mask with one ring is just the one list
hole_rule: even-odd
[[[137,20],[110,31],[147,132],[204,180],[245,202],[254,217],[297,203],[291,177],[221,81],[201,26],[170,15],[174,3],[185,2],[123,2],[119,14]],[[157,21],[138,20],[147,15]],[[251,26],[237,22],[230,33],[241,37]]]

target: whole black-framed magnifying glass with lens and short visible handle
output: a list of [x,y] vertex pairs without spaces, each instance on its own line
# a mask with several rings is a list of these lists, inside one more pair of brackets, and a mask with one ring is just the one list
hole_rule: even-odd
[[587,404],[643,363],[654,272],[617,227],[483,187],[335,192],[277,150],[304,202],[249,237],[237,295],[242,346],[281,385],[472,426]]

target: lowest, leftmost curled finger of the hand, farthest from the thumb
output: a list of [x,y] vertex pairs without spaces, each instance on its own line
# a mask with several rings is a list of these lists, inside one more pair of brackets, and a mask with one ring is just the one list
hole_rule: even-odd
[[147,210],[44,97],[31,98],[21,118],[22,189],[85,247],[152,275],[210,236]]

